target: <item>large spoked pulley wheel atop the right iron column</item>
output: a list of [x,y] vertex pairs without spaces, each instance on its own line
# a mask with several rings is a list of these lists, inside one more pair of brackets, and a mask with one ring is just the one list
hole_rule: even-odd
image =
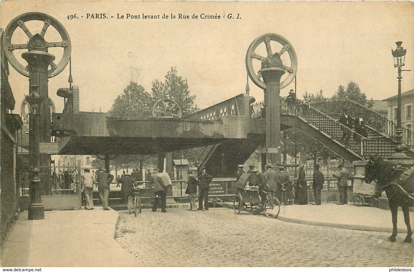
[[[283,61],[280,61],[285,59],[284,54],[289,55],[290,64],[284,65]],[[269,65],[280,67],[288,73],[288,76],[280,82],[280,89],[288,86],[296,76],[298,59],[295,49],[279,34],[269,33],[258,37],[250,44],[246,53],[247,73],[250,79],[262,89],[266,89],[266,83],[263,81],[260,69]]]

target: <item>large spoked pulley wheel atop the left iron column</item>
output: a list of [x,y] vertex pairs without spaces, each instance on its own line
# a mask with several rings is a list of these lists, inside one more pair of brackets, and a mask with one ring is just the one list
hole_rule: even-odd
[[[41,29],[41,32],[37,34],[34,32],[32,33],[25,24],[28,21],[42,21],[43,28]],[[55,30],[58,31],[61,41],[53,40],[45,41],[44,43],[41,41],[42,39],[44,39],[46,31],[50,26],[53,26]],[[18,27],[20,27],[26,34],[27,38],[29,38],[29,41],[27,43],[12,44],[12,36]],[[36,31],[36,28],[32,29],[32,31]],[[34,36],[38,34],[41,36],[41,39],[32,39]],[[31,42],[34,44],[30,45]],[[29,77],[29,70],[26,66],[19,63],[19,61],[16,58],[16,55],[14,55],[14,53],[17,54],[17,52],[21,49],[28,49],[29,46],[35,46],[36,48],[45,49],[51,47],[63,48],[63,55],[58,64],[55,64],[55,62],[53,61],[49,63],[50,69],[48,70],[48,78],[54,77],[55,75],[58,75],[60,72],[62,72],[62,70],[66,67],[70,59],[71,45],[69,34],[67,34],[66,29],[55,18],[40,12],[28,12],[14,18],[7,25],[4,31],[2,43],[5,49],[4,51],[7,60],[10,62],[13,68],[17,70],[17,72],[24,75],[25,77]]]

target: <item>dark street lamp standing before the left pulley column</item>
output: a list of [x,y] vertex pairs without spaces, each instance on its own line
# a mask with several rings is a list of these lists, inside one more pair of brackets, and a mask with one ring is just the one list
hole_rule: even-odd
[[29,156],[31,165],[29,219],[44,219],[44,207],[40,188],[40,111],[43,98],[39,95],[39,86],[31,85],[26,96],[29,105]]

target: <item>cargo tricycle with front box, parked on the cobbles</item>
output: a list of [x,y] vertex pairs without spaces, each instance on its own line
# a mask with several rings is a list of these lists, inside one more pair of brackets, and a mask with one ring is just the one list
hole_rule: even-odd
[[233,210],[235,214],[239,214],[243,207],[251,209],[253,213],[260,214],[265,212],[269,218],[276,218],[280,212],[280,202],[276,197],[272,197],[269,192],[263,191],[266,194],[266,200],[262,205],[262,197],[258,192],[258,188],[250,186],[244,190],[244,197],[238,193],[233,200]]

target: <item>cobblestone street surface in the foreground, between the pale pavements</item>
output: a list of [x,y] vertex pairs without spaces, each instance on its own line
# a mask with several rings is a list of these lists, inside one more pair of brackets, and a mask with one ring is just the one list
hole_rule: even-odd
[[390,233],[288,223],[216,208],[119,211],[116,241],[143,267],[412,267],[413,244]]

